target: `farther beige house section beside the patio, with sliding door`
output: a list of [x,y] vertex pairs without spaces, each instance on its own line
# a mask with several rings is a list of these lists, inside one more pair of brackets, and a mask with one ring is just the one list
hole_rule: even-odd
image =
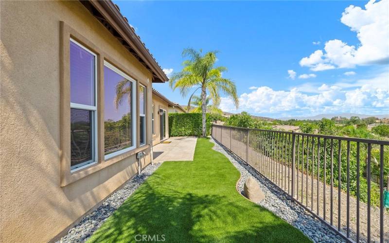
[[153,105],[152,105],[152,134],[153,145],[159,144],[161,141],[169,138],[169,113],[186,113],[186,111],[179,105],[156,89],[153,88]]

